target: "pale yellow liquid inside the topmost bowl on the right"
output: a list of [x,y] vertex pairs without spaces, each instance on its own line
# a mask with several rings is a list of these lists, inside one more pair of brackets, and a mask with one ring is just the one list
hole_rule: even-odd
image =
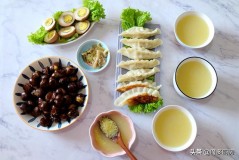
[[179,20],[176,26],[178,38],[188,46],[200,46],[209,38],[209,26],[198,15],[191,14]]

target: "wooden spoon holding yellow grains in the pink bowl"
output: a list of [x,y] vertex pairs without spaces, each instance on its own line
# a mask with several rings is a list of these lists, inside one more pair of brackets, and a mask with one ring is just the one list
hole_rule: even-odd
[[[125,146],[123,140],[122,140],[122,137],[121,137],[121,134],[120,134],[120,131],[119,131],[119,128],[118,126],[116,125],[116,123],[111,120],[110,118],[108,117],[104,117],[102,118],[104,120],[107,120],[108,124],[103,124],[105,123],[105,121],[101,120],[100,121],[100,129],[101,131],[105,134],[105,136],[111,140],[113,140],[115,143],[117,143],[118,145],[120,145],[120,147],[126,152],[126,154],[128,155],[128,157],[131,159],[131,160],[137,160],[137,158],[133,155],[133,153],[128,149],[128,147]],[[102,127],[104,125],[104,127]],[[107,126],[108,125],[108,126]],[[108,129],[106,129],[108,128]],[[114,128],[114,132],[111,134],[109,133],[109,128]]]

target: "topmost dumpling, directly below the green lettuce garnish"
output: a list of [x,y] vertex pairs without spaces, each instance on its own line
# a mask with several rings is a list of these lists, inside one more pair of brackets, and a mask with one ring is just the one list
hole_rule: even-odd
[[157,34],[160,34],[160,30],[158,28],[152,30],[143,27],[132,27],[126,31],[123,31],[120,36],[128,38],[149,38]]

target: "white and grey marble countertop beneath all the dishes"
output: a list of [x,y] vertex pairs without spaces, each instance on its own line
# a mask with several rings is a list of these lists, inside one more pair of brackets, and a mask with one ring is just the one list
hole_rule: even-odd
[[[0,4],[0,159],[1,160],[100,160],[110,159],[94,151],[90,145],[89,126],[100,112],[119,110],[131,117],[137,133],[132,151],[140,160],[238,160],[239,159],[239,1],[237,0],[100,0],[107,17],[83,40],[61,47],[35,46],[26,36],[46,17],[57,10],[81,6],[81,1],[3,0]],[[153,139],[151,122],[154,114],[138,115],[127,108],[113,106],[115,58],[120,13],[126,7],[150,11],[152,23],[161,24],[160,90],[164,105],[184,106],[195,117],[198,133],[188,149],[172,153],[160,148]],[[215,37],[203,49],[187,49],[178,45],[173,33],[176,17],[188,10],[207,14],[214,23]],[[91,97],[83,116],[71,127],[55,132],[34,130],[17,116],[12,102],[13,87],[21,70],[43,56],[64,56],[76,60],[80,43],[88,39],[104,41],[111,51],[110,65],[97,74],[86,73]],[[199,56],[216,68],[218,85],[209,98],[192,101],[180,97],[172,78],[177,64],[186,57]],[[232,150],[234,155],[207,155],[207,150]],[[202,150],[204,154],[192,155]],[[112,158],[127,159],[126,156]]]

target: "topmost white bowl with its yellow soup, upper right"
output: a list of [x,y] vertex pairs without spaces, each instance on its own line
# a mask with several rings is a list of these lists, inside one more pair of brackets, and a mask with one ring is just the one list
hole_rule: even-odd
[[188,48],[207,46],[214,37],[212,21],[203,13],[188,11],[178,16],[174,33],[177,41]]

